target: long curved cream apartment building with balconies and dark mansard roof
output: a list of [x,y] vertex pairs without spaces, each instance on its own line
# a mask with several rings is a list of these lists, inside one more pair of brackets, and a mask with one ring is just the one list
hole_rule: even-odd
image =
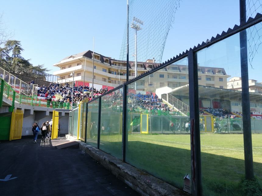
[[[169,87],[177,88],[189,84],[188,82],[188,66],[178,64],[170,64],[165,68],[150,74],[150,78],[144,78],[137,81],[136,89],[145,90],[150,88],[154,91],[157,88]],[[84,67],[85,74],[84,74]],[[160,63],[155,63],[153,60],[145,62],[137,62],[137,75],[158,67]],[[70,74],[74,71],[74,81],[78,81],[80,85],[85,81],[85,85],[92,84],[92,67],[93,67],[93,52],[88,50],[82,53],[68,56],[53,66],[59,67],[60,70],[55,71],[54,75],[62,79],[73,80]],[[85,79],[84,79],[85,77]],[[129,61],[129,79],[135,77],[135,63]],[[198,67],[198,82],[200,85],[226,88],[227,78],[230,77],[225,73],[223,68],[216,67]],[[115,60],[111,57],[103,56],[94,53],[94,86],[95,84],[115,87],[126,81],[126,61]]]

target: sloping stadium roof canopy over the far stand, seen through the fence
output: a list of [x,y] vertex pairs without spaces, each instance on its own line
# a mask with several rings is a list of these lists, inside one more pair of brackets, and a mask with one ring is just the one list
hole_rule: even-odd
[[[225,88],[215,88],[211,86],[198,85],[198,93],[200,98],[212,98],[212,99],[227,99],[230,101],[241,101],[242,91],[225,89]],[[189,85],[175,88],[169,94],[174,96],[188,96],[189,97]],[[262,102],[261,93],[250,92],[250,101],[252,102]]]

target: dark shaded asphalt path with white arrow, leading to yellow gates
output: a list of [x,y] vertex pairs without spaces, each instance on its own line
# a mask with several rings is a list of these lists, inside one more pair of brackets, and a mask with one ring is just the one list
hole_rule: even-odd
[[1,141],[0,195],[138,195],[83,151],[54,147],[63,142]]

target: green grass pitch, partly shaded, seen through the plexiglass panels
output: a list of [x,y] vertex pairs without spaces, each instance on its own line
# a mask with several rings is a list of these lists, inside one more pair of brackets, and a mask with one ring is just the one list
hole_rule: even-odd
[[[201,169],[205,195],[238,195],[245,174],[243,134],[202,133]],[[121,157],[122,135],[102,136],[101,147]],[[252,134],[254,172],[262,182],[262,134]],[[191,175],[190,135],[129,134],[126,161],[176,187]]]

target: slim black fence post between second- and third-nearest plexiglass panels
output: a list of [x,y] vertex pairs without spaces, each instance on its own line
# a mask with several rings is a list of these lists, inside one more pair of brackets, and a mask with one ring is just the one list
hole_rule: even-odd
[[[123,124],[122,124],[122,161],[126,161],[126,142],[127,142],[127,85],[123,84]],[[131,119],[132,120],[132,119]]]

